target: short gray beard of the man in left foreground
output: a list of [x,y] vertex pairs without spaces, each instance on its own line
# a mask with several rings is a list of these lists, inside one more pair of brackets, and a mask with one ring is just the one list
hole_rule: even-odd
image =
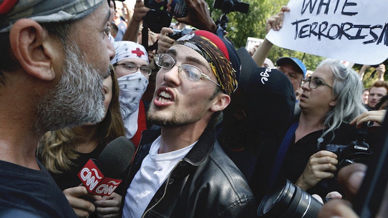
[[103,79],[97,69],[84,61],[77,46],[65,46],[62,78],[36,106],[37,130],[46,132],[100,122],[105,116]]

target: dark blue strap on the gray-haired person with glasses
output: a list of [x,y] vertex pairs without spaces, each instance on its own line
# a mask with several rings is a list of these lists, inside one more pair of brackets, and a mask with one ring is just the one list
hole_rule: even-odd
[[272,168],[271,177],[268,183],[269,185],[267,189],[268,191],[270,191],[274,186],[275,179],[277,177],[277,174],[280,171],[280,167],[282,166],[284,157],[286,156],[288,148],[290,147],[291,139],[295,134],[295,130],[298,127],[298,124],[299,122],[295,122],[290,126],[290,128],[288,129],[286,135],[282,140],[282,143],[280,144],[279,150],[277,151],[277,154],[275,157],[275,163],[274,163],[274,167]]

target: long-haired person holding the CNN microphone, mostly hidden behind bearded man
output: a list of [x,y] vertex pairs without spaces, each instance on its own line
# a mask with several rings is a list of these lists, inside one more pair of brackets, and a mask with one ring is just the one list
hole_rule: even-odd
[[[96,200],[88,202],[79,198],[88,192],[79,186],[78,172],[90,158],[99,156],[105,146],[117,137],[124,136],[124,125],[120,115],[118,85],[111,66],[111,75],[103,82],[105,93],[105,117],[95,125],[60,129],[47,132],[38,145],[38,159],[48,169],[57,185],[79,217],[88,217],[95,211],[100,216],[118,215],[121,196],[92,196]],[[117,191],[120,189],[118,188]],[[104,208],[104,209],[102,209]]]

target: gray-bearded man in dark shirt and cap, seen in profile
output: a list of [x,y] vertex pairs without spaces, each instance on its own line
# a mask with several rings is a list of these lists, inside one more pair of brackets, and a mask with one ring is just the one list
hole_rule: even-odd
[[104,117],[108,2],[0,0],[0,17],[0,217],[76,217],[35,150],[48,130]]

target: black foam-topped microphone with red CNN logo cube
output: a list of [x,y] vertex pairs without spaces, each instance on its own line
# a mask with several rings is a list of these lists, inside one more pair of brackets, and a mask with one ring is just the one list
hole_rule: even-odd
[[78,177],[89,193],[109,196],[122,182],[119,175],[128,168],[135,150],[132,141],[120,136],[102,150],[96,162],[89,159]]

